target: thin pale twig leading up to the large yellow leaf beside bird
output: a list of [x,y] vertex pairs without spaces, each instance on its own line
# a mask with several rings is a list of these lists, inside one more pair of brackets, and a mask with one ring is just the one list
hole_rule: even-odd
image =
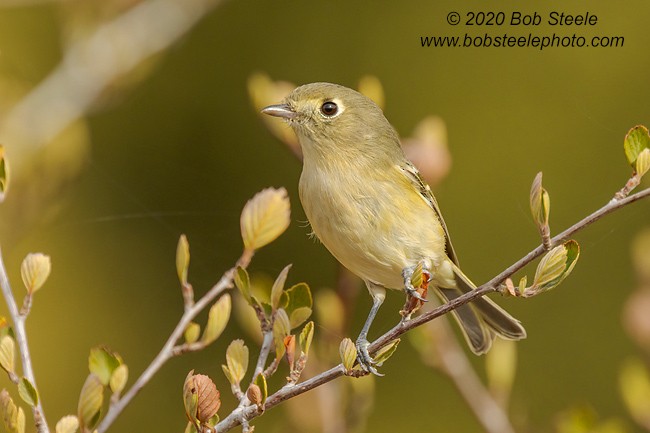
[[[250,262],[251,257],[240,258],[237,263],[239,266],[246,268]],[[182,350],[178,350],[176,342],[183,336],[183,332],[190,324],[190,322],[201,312],[203,311],[214,299],[216,299],[220,294],[222,294],[226,289],[231,288],[233,284],[233,277],[235,275],[235,269],[231,268],[226,271],[221,279],[215,284],[201,299],[199,299],[191,308],[188,308],[183,313],[183,316],[178,321],[178,324],[172,331],[171,335],[165,342],[165,345],[162,347],[158,355],[151,361],[151,364],[142,372],[138,380],[135,381],[133,386],[120,398],[115,404],[112,404],[108,408],[106,416],[102,422],[97,427],[98,433],[103,433],[111,426],[111,424],[117,419],[120,413],[126,408],[126,406],[133,400],[133,398],[140,392],[140,390],[151,380],[151,378],[160,370],[160,368],[167,362],[169,359],[175,355],[184,353]]]

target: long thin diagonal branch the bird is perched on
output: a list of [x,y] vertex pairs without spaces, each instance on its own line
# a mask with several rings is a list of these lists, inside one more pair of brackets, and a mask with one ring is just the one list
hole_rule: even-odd
[[[635,201],[638,201],[648,196],[650,196],[650,188],[644,189],[636,194],[630,195],[623,199],[616,199],[610,201],[605,206],[601,207],[597,211],[583,218],[581,221],[572,225],[571,227],[569,227],[559,235],[553,237],[551,239],[552,246],[558,245],[561,242],[566,241],[572,235],[586,228],[590,224],[598,221],[599,219],[603,218],[605,215],[608,215],[614,212],[615,210],[618,210],[628,204],[631,204]],[[516,263],[514,263],[513,265],[505,269],[499,275],[492,278],[487,283],[481,285],[474,291],[466,293],[463,296],[460,296],[451,302],[448,302],[444,305],[441,305],[438,308],[435,308],[434,310],[431,310],[421,316],[416,317],[415,319],[400,322],[399,324],[394,326],[391,330],[389,330],[384,335],[382,335],[381,337],[379,337],[378,339],[376,339],[370,344],[369,347],[370,354],[374,354],[375,352],[377,352],[377,350],[386,346],[388,343],[390,343],[391,341],[395,340],[396,338],[400,337],[402,334],[406,333],[407,331],[413,328],[416,328],[427,322],[430,322],[431,320],[437,317],[443,316],[468,302],[471,302],[489,293],[499,291],[500,290],[499,285],[503,283],[506,280],[506,278],[510,277],[515,272],[519,271],[528,263],[532,262],[533,260],[541,256],[545,252],[546,249],[544,248],[544,246],[540,245],[534,250],[532,250],[531,252],[529,252],[528,254],[526,254],[519,261],[517,261]],[[279,391],[275,392],[274,394],[268,397],[264,409],[265,410],[271,409],[272,407],[277,406],[278,404],[282,403],[285,400],[288,400],[292,397],[296,397],[300,394],[303,394],[307,391],[317,388],[320,385],[323,385],[324,383],[330,382],[338,377],[345,375],[345,373],[346,373],[345,368],[343,367],[342,364],[339,364],[304,382],[295,385],[291,385],[291,384],[285,385]],[[237,425],[240,425],[243,420],[250,421],[251,419],[260,416],[262,413],[263,410],[261,410],[255,405],[238,407],[233,412],[231,412],[226,418],[221,420],[219,424],[217,424],[216,431],[217,432],[228,431],[236,427]]]

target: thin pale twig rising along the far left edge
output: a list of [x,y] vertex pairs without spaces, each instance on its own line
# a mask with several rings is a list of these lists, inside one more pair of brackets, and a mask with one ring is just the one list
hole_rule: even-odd
[[[16,299],[14,298],[13,291],[11,290],[11,285],[9,284],[9,277],[7,277],[7,270],[5,269],[1,251],[0,288],[2,289],[2,295],[7,302],[11,320],[14,322],[14,335],[16,336],[16,342],[18,343],[18,349],[20,351],[20,360],[23,365],[23,375],[27,378],[27,380],[31,382],[32,385],[34,385],[34,388],[38,390],[38,387],[36,386],[36,378],[34,377],[34,369],[32,368],[32,358],[29,354],[29,345],[27,344],[27,331],[25,330],[25,320],[27,319],[27,314],[22,315],[20,314],[20,311],[18,311],[18,305],[16,304]],[[45,412],[43,412],[41,399],[38,399],[38,404],[32,408],[32,413],[34,414],[34,423],[36,424],[36,429],[38,432],[49,433],[50,429],[47,425],[47,420],[45,419]]]

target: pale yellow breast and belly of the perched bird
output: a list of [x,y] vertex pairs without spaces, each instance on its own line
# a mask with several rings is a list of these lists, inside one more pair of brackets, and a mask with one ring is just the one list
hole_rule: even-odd
[[403,287],[402,270],[445,255],[444,232],[431,208],[404,184],[365,173],[305,166],[300,199],[314,234],[364,280]]

